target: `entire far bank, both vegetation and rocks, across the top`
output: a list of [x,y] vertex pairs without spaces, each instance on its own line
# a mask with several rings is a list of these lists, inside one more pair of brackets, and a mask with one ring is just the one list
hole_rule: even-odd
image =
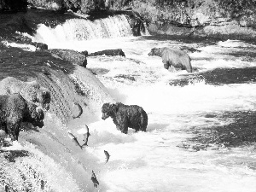
[[[15,11],[26,12],[26,8],[49,9],[65,14],[65,19],[68,19],[67,13],[72,10],[74,15],[79,17],[97,19],[128,10],[139,15],[140,19],[143,18],[151,34],[241,40],[256,37],[256,0],[20,0],[18,2],[1,0],[0,13],[6,15]],[[0,36],[3,37],[3,34]]]

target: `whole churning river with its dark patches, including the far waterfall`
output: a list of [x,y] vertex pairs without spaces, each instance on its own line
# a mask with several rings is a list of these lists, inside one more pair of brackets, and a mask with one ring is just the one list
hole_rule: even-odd
[[[44,127],[21,131],[19,143],[10,147],[31,154],[14,165],[4,162],[2,172],[14,178],[16,189],[29,183],[32,191],[58,192],[255,191],[256,44],[132,37],[122,16],[94,23],[68,20],[54,29],[40,25],[32,38],[49,49],[89,53],[123,49],[125,57],[88,57],[89,69],[108,72],[96,77],[76,67],[69,76],[86,96],[75,95],[65,77],[59,80],[60,74],[51,73],[50,82],[38,75],[41,84],[52,87],[56,99]],[[197,49],[189,52],[194,72],[169,72],[160,57],[148,56],[150,49],[165,46]],[[73,101],[86,103],[85,113],[63,121]],[[102,120],[102,103],[114,101],[143,107],[148,113],[147,132],[130,129],[125,135],[115,129],[112,119]],[[82,143],[84,124],[91,136],[88,147],[81,150],[67,132]],[[110,154],[107,164],[104,150]],[[92,170],[100,183],[97,189],[90,180]],[[28,182],[15,177],[17,172],[24,172]]]

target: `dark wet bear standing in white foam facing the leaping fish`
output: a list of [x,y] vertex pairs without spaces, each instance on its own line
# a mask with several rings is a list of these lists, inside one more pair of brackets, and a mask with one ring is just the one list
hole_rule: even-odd
[[148,126],[148,114],[137,105],[125,105],[121,102],[102,105],[102,119],[113,119],[117,130],[127,134],[128,127],[136,131],[146,131]]

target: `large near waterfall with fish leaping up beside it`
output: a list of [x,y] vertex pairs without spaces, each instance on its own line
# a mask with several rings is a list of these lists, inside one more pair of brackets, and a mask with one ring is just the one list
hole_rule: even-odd
[[[87,169],[97,169],[95,157],[78,148],[68,132],[82,143],[77,131],[94,120],[90,118],[95,118],[103,102],[113,102],[113,98],[84,67],[76,66],[72,73],[44,67],[36,79],[51,94],[44,128],[31,130],[24,124],[26,131],[20,131],[19,143],[13,143],[13,149],[0,149],[0,191],[4,186],[6,191],[91,191]],[[74,102],[83,108],[79,119],[72,118],[79,113]]]

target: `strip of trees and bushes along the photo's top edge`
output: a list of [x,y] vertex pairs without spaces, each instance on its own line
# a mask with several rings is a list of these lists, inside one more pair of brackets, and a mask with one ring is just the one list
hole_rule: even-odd
[[150,22],[169,20],[186,24],[193,20],[195,13],[236,19],[241,15],[254,15],[256,10],[256,0],[0,0],[0,11],[12,9],[12,4],[16,6],[17,2],[44,9],[72,9],[84,14],[92,9],[133,9]]

